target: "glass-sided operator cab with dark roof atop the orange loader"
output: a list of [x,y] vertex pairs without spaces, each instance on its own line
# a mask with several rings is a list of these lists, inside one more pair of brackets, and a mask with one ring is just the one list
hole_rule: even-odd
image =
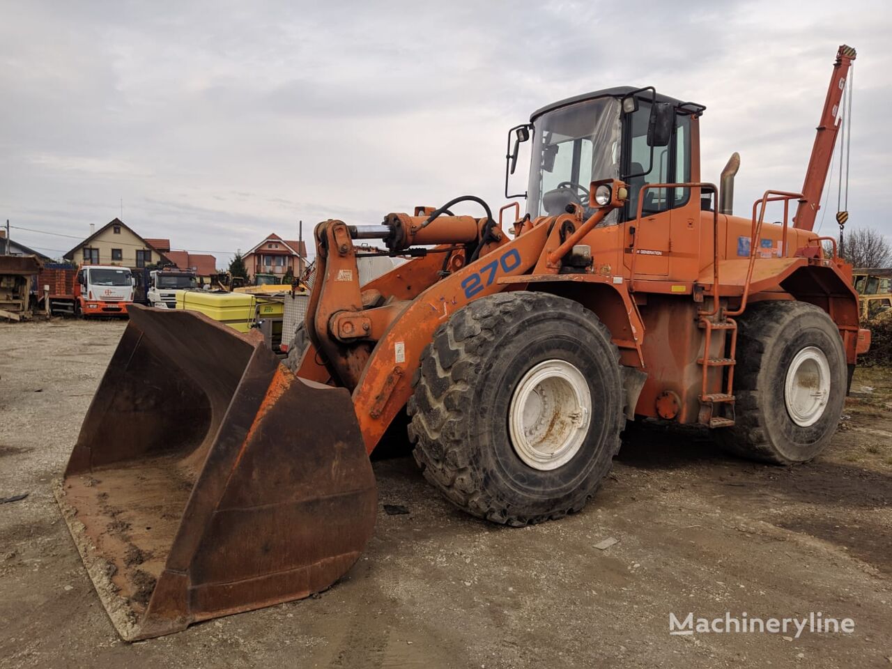
[[[581,205],[584,218],[592,181],[621,179],[629,199],[600,225],[635,219],[641,187],[690,181],[691,121],[706,109],[658,95],[653,87],[615,87],[551,103],[533,112],[530,123],[511,128],[508,175],[514,173],[518,145],[533,140],[526,193],[527,214],[557,216]],[[688,202],[689,189],[648,189],[642,215],[668,211]]]

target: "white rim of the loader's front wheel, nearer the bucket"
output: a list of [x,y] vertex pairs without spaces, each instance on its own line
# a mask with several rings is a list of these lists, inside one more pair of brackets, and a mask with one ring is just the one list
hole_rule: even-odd
[[590,424],[589,384],[566,360],[540,362],[524,374],[511,397],[511,446],[533,469],[566,465],[582,447]]

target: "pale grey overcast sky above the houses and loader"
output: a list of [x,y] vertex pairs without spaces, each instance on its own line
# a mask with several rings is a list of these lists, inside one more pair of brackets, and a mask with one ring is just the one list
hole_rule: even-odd
[[[890,7],[3,0],[0,219],[83,237],[123,200],[138,234],[223,267],[269,232],[296,237],[299,219],[310,238],[323,219],[376,223],[457,194],[495,210],[508,128],[617,85],[706,104],[702,176],[739,151],[742,213],[766,188],[802,186],[846,43],[849,225],[892,237]],[[835,235],[833,179],[818,222],[826,211]],[[78,242],[12,238],[51,256]]]

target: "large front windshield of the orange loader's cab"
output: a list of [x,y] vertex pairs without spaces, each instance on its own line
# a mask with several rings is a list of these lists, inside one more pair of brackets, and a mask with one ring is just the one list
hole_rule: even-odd
[[[619,178],[620,102],[587,100],[542,114],[533,121],[533,160],[527,187],[531,217],[556,216],[567,204],[588,208],[592,181]],[[611,211],[604,223],[615,223]]]

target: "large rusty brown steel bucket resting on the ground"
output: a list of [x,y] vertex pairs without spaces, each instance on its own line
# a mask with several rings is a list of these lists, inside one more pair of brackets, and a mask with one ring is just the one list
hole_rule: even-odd
[[332,585],[376,514],[350,393],[202,314],[129,315],[55,486],[121,637]]

